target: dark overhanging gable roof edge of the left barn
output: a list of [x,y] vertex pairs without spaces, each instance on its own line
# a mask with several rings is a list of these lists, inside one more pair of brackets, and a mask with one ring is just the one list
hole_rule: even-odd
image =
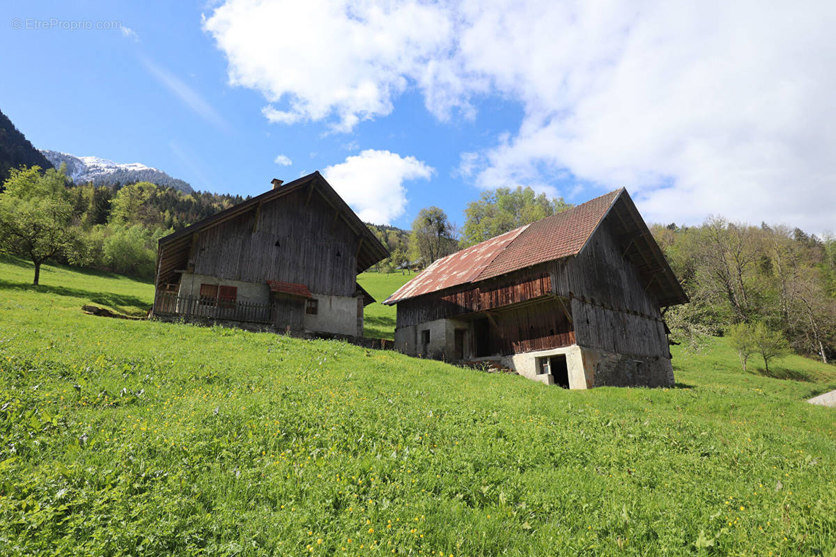
[[[389,256],[389,251],[380,243],[375,234],[369,230],[369,227],[359,219],[353,210],[345,203],[342,197],[334,191],[334,188],[324,179],[319,171],[288,182],[285,185],[279,185],[273,190],[268,190],[261,195],[256,195],[238,205],[233,205],[227,210],[222,210],[220,213],[199,220],[195,224],[186,226],[182,230],[178,230],[174,234],[170,234],[160,239],[159,247],[157,249],[157,286],[173,282],[176,279],[176,271],[185,269],[189,261],[189,252],[191,251],[191,242],[195,234],[201,230],[206,230],[212,226],[217,226],[241,216],[248,211],[257,210],[259,206],[279,198],[290,195],[293,192],[304,190],[305,188],[313,188],[324,200],[334,209],[345,223],[354,233],[360,237],[360,246],[357,253],[357,272],[363,272],[370,266],[375,265],[381,259]],[[313,192],[313,190],[311,190]]]

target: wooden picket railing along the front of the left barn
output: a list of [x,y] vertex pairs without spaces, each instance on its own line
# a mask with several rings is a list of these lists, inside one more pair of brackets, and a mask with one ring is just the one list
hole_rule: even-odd
[[273,321],[272,310],[270,304],[216,300],[201,296],[177,296],[176,292],[157,292],[154,299],[154,313],[166,316],[269,323]]

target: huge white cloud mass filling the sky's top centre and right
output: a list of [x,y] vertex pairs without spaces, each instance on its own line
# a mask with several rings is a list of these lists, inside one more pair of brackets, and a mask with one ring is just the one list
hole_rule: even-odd
[[649,220],[833,228],[836,3],[230,0],[204,28],[278,123],[348,131],[410,87],[472,118],[494,95],[524,115],[462,154],[480,187],[625,185]]

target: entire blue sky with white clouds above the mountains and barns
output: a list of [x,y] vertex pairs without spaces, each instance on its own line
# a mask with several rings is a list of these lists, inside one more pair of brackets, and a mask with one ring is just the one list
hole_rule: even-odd
[[833,6],[752,6],[5,3],[0,108],[38,148],[200,190],[321,170],[401,227],[531,185],[833,230]]

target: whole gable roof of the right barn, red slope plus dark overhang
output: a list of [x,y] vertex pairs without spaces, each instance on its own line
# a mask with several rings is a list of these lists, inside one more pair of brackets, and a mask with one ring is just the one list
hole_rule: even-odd
[[[688,301],[630,195],[622,188],[442,257],[383,303],[392,305],[538,263],[576,256],[608,218],[613,220],[616,240],[624,240],[624,256],[638,268],[645,286],[653,284],[660,304],[670,306]],[[662,279],[656,278],[659,274]]]

